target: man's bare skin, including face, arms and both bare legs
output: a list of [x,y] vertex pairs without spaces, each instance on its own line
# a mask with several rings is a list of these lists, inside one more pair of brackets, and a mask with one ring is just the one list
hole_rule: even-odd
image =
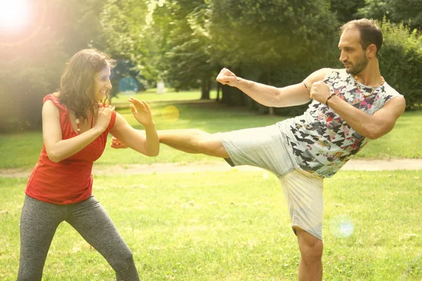
[[[345,65],[348,73],[356,74],[359,82],[368,86],[381,83],[376,46],[371,44],[364,50],[360,44],[359,30],[354,28],[345,30],[340,37],[338,47],[341,51],[339,59]],[[217,81],[221,84],[234,86],[258,103],[269,107],[301,105],[311,99],[326,104],[331,91],[323,79],[330,71],[327,68],[316,70],[303,83],[283,88],[267,86],[236,77],[236,74],[226,68],[219,72]],[[399,96],[389,100],[381,110],[369,115],[337,96],[332,96],[328,103],[328,106],[338,113],[352,129],[371,139],[379,138],[391,131],[399,116],[404,112],[405,105],[404,98]],[[217,136],[204,131],[197,129],[166,130],[158,131],[158,136],[160,143],[177,150],[188,153],[203,153],[220,158],[229,157]],[[126,148],[124,142],[117,138],[113,138],[111,146],[113,148]],[[295,227],[295,233],[298,236],[301,255],[298,280],[321,281],[323,242],[298,227]]]

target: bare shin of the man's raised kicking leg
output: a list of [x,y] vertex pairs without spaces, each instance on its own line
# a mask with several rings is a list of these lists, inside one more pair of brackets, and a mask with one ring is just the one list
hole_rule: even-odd
[[187,153],[202,153],[220,158],[229,158],[219,138],[199,129],[158,131],[160,143]]

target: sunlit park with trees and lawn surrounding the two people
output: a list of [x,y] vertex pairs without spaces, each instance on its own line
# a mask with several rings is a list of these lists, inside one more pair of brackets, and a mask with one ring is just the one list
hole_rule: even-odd
[[[357,157],[422,158],[422,1],[16,0],[0,2],[0,15],[1,280],[18,270],[42,98],[58,89],[65,62],[82,48],[117,60],[111,103],[137,129],[129,95],[151,105],[158,129],[231,131],[274,124],[306,105],[259,105],[217,85],[222,67],[264,84],[298,83],[320,67],[341,68],[338,27],[373,18],[385,39],[381,73],[407,111]],[[295,280],[299,252],[277,179],[267,171],[196,169],[216,161],[165,146],[154,158],[108,147],[94,164],[110,171],[94,174],[94,195],[134,252],[141,279]],[[169,163],[191,172],[124,173]],[[324,280],[421,280],[422,172],[397,169],[340,171],[326,180]],[[63,223],[44,280],[113,280],[113,272]]]

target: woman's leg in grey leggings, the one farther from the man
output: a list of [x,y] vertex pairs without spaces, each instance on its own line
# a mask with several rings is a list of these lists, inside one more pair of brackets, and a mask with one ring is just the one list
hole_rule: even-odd
[[51,240],[65,214],[63,206],[41,202],[26,195],[20,216],[18,281],[41,280]]

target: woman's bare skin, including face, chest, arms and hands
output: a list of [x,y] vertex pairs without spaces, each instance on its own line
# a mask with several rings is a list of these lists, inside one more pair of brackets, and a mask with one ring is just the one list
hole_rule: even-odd
[[[100,100],[106,91],[111,89],[110,83],[110,67],[107,66],[103,70],[97,72],[94,79],[94,95]],[[56,96],[60,93],[56,93]],[[115,125],[110,129],[110,133],[120,138],[132,149],[141,152],[144,155],[156,156],[160,150],[158,135],[155,130],[155,124],[148,105],[143,102],[130,98],[132,113],[136,120],[145,126],[145,134],[139,134],[137,130],[127,123],[127,121],[118,113],[116,113]],[[60,117],[58,108],[51,100],[47,100],[42,108],[42,126],[43,139],[46,147],[47,155],[52,162],[60,162],[85,148],[92,143],[98,136],[106,131],[110,118],[115,111],[115,107],[100,107],[96,115],[92,117],[91,112],[87,112],[87,119],[80,119],[80,133],[73,137],[63,140],[60,126]],[[70,110],[70,123],[75,132],[77,132],[77,124],[75,113]],[[93,121],[91,124],[91,120]]]

